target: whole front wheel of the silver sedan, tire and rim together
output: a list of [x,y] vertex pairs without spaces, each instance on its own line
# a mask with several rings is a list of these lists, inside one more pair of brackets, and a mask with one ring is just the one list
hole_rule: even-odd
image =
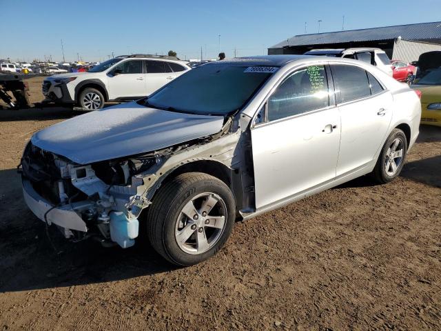
[[181,174],[166,183],[147,211],[152,247],[176,265],[212,257],[232,232],[236,207],[228,186],[201,172]]

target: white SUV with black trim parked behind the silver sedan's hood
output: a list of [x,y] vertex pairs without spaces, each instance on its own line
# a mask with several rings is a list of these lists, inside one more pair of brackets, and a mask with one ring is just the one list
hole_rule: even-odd
[[106,101],[141,99],[190,70],[176,57],[134,54],[115,57],[88,72],[55,74],[43,81],[43,94],[58,103],[86,110]]

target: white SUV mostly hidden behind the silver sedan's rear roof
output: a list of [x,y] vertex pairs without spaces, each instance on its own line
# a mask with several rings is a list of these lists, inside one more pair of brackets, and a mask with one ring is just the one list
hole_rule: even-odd
[[380,48],[340,48],[309,50],[305,55],[324,55],[327,57],[344,57],[345,59],[360,60],[376,66],[378,69],[392,77],[391,60]]

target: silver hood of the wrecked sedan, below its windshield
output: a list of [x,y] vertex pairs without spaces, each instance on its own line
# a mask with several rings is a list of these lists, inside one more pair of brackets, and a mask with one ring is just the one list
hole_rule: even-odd
[[127,157],[219,132],[222,116],[146,108],[136,102],[89,112],[34,134],[35,146],[80,163]]

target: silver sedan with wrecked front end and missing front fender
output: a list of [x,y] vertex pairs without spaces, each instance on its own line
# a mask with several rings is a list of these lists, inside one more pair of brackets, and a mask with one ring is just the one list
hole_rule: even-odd
[[144,234],[192,265],[220,250],[236,219],[365,174],[392,181],[420,116],[415,91],[361,61],[217,61],[34,134],[23,194],[66,238],[127,248]]

